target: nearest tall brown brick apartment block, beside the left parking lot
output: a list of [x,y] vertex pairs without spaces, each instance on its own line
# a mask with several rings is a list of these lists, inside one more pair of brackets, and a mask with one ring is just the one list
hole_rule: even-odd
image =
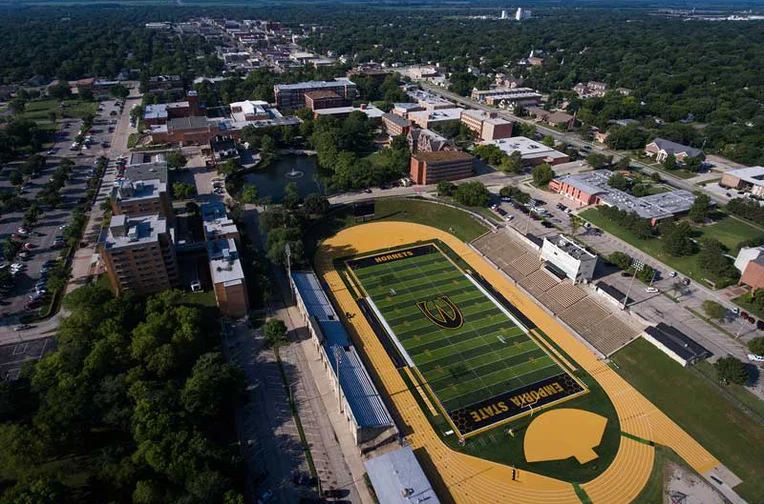
[[178,286],[173,232],[158,215],[111,218],[100,245],[112,290],[155,294]]

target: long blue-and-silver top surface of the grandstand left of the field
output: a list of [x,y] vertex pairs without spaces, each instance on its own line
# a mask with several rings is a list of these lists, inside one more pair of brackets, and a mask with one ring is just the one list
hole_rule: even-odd
[[294,272],[292,279],[308,314],[318,322],[324,336],[324,349],[342,393],[359,427],[387,427],[393,419],[374,387],[350,338],[313,272]]

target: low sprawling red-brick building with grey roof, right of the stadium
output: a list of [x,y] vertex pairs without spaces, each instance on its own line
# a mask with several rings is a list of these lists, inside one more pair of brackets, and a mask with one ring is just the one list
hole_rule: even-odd
[[695,195],[683,189],[650,196],[636,197],[610,187],[610,170],[595,170],[558,177],[549,182],[549,188],[564,195],[578,206],[608,205],[626,212],[634,212],[653,225],[658,221],[686,214]]

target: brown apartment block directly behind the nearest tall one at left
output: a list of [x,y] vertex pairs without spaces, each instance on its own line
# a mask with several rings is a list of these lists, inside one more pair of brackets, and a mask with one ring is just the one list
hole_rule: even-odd
[[159,179],[123,180],[111,191],[113,215],[140,217],[158,215],[172,224],[175,213],[167,196],[167,183]]

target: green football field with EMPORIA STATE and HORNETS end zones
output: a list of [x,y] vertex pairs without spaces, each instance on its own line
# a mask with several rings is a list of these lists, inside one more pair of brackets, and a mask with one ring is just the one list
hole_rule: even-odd
[[461,435],[585,392],[434,244],[346,262],[403,361]]

